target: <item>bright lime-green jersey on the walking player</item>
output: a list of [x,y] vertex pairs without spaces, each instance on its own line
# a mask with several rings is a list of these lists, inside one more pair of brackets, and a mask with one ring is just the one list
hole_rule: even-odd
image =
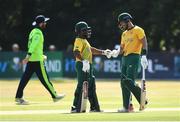
[[29,34],[28,53],[31,53],[29,61],[43,61],[44,36],[40,29],[34,28]]

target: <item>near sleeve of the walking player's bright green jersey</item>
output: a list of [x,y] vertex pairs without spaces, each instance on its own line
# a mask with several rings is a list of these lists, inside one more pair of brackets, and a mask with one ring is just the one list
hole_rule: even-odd
[[29,49],[28,49],[28,53],[33,53],[35,48],[38,46],[38,43],[40,41],[40,38],[41,38],[41,35],[40,33],[34,33],[30,39],[31,39],[31,44],[29,46]]

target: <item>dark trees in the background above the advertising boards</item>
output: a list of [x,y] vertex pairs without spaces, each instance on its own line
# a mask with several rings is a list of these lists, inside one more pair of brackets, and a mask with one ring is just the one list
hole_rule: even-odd
[[38,14],[51,18],[45,30],[45,49],[56,45],[66,50],[73,45],[74,26],[86,21],[92,27],[91,44],[98,48],[114,48],[120,42],[117,17],[128,12],[133,23],[144,28],[149,50],[170,51],[180,47],[179,0],[0,0],[0,46],[11,50],[18,43],[27,50],[31,23]]

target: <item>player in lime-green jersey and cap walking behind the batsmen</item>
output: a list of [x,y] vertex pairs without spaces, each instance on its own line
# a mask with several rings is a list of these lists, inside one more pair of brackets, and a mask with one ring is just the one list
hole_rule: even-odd
[[44,60],[46,60],[47,57],[43,55],[44,36],[42,31],[46,28],[46,22],[48,20],[49,18],[45,18],[43,15],[39,15],[32,23],[34,29],[29,34],[28,53],[23,60],[23,64],[27,65],[25,72],[21,77],[15,97],[17,104],[28,104],[28,102],[23,98],[23,90],[33,73],[36,73],[41,83],[51,94],[54,102],[62,99],[65,96],[64,94],[57,95],[52,83],[49,80],[46,68],[44,66]]

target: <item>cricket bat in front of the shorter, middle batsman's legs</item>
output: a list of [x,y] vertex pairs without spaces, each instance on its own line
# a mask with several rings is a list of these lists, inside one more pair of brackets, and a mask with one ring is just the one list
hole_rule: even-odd
[[80,109],[81,113],[86,112],[87,100],[88,100],[88,81],[87,81],[87,73],[86,73],[86,80],[83,82],[83,88],[82,88],[81,109]]

